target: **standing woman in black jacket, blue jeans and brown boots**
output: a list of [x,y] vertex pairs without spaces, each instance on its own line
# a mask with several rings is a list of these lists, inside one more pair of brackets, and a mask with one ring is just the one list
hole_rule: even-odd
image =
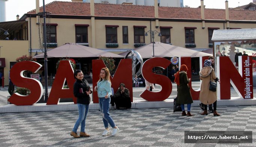
[[[89,134],[85,133],[85,119],[87,117],[89,111],[89,104],[91,102],[91,98],[89,94],[91,94],[90,86],[87,80],[84,79],[84,74],[81,70],[76,70],[74,72],[74,77],[76,82],[73,85],[73,93],[74,96],[77,97],[77,106],[78,106],[78,119],[75,123],[75,126],[70,133],[71,136],[75,138],[79,137],[90,137]],[[79,125],[81,124],[80,136],[76,133]]]

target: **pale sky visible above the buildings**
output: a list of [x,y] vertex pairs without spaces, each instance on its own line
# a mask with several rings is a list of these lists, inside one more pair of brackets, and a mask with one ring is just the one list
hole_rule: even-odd
[[[43,6],[43,0],[40,1],[40,7]],[[48,4],[55,0],[45,0]],[[57,0],[57,1],[71,1],[71,0]],[[204,0],[205,8],[225,9],[226,0]],[[228,0],[229,7],[238,7],[249,4],[253,0]],[[184,6],[198,7],[201,5],[201,0],[183,0]],[[6,1],[6,21],[16,21],[16,15],[21,18],[30,10],[36,9],[36,0],[8,0]]]

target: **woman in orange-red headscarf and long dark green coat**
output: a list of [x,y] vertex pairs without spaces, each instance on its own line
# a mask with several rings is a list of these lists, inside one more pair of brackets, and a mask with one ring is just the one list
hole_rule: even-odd
[[[187,66],[181,65],[180,70],[174,75],[174,82],[178,85],[178,94],[176,103],[181,104],[182,113],[181,116],[193,116],[190,114],[191,103],[193,103],[190,93],[189,82],[187,78]],[[184,104],[187,104],[187,114],[185,112]]]

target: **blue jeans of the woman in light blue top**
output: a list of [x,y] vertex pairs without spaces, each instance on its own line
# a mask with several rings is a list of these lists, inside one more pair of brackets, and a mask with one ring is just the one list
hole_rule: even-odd
[[100,104],[100,112],[102,113],[102,120],[104,123],[104,127],[108,128],[108,123],[109,125],[114,128],[115,123],[111,116],[109,115],[109,104],[110,104],[111,98],[105,98],[105,97],[100,97],[99,98],[99,104]]

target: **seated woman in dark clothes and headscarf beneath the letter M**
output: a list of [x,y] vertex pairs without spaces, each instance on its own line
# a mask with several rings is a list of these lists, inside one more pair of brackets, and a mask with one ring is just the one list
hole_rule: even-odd
[[120,107],[130,109],[132,106],[130,92],[123,83],[120,84],[117,92],[114,94],[114,102],[117,109],[120,109]]

